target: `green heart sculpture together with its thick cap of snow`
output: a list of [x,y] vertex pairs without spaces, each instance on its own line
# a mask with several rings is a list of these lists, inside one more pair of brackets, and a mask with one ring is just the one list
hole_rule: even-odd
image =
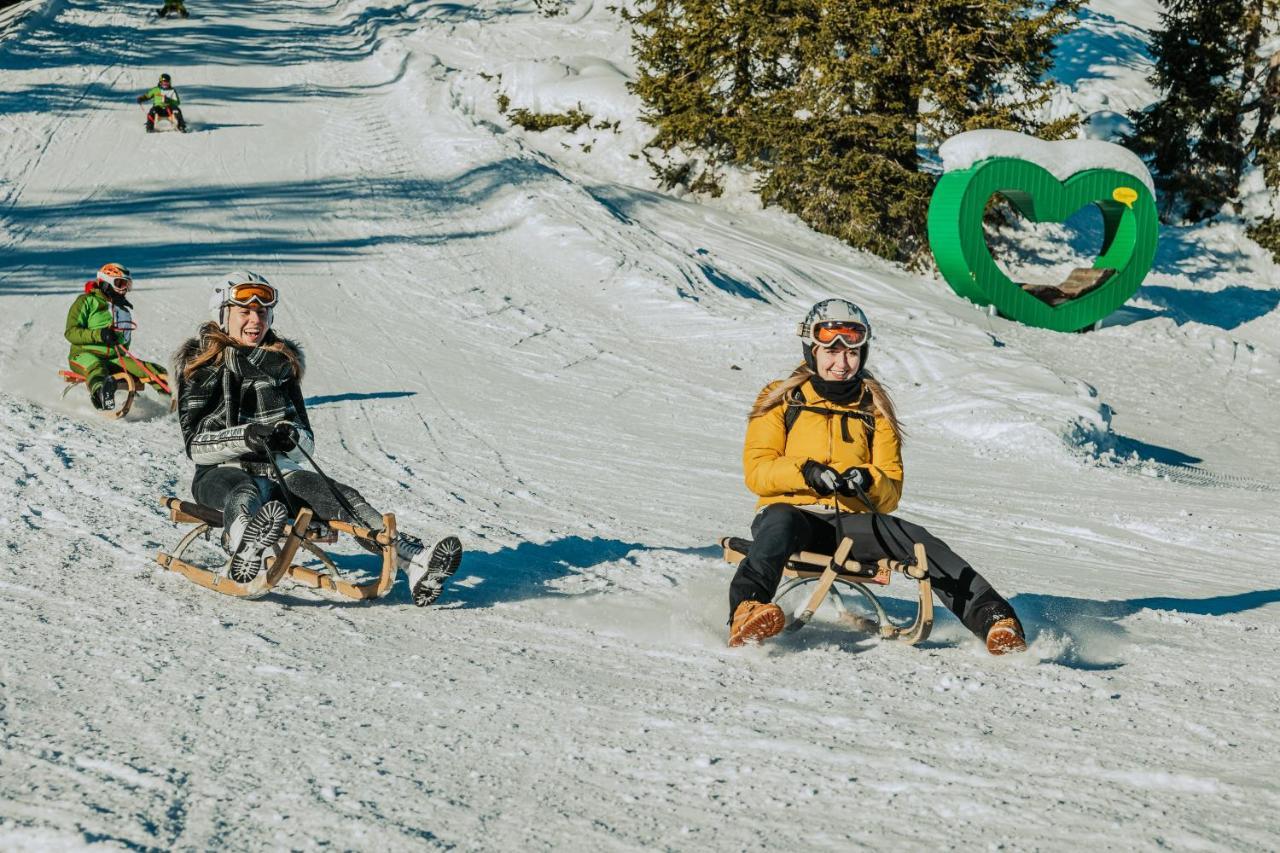
[[[1075,332],[1107,316],[1151,272],[1158,219],[1155,183],[1132,151],[1098,140],[1046,142],[1012,131],[969,131],[938,150],[943,174],[929,201],[929,247],[951,288],[1027,325]],[[1056,287],[1018,284],[996,264],[982,220],[993,196],[1032,222],[1102,213],[1092,268]]]

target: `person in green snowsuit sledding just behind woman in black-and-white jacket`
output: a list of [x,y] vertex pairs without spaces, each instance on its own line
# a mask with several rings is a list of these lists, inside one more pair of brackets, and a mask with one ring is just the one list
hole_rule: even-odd
[[116,373],[129,373],[148,379],[169,393],[169,377],[163,365],[142,361],[132,352],[133,305],[127,298],[133,289],[133,277],[120,264],[106,264],[97,278],[84,282],[84,292],[76,297],[67,313],[67,341],[72,345],[67,361],[72,373],[88,386],[93,407],[115,409]]

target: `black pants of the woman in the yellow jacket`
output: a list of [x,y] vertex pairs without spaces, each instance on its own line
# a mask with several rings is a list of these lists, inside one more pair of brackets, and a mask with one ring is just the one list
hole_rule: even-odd
[[790,503],[771,503],[751,523],[751,552],[739,564],[728,588],[728,612],[744,601],[773,601],[787,557],[796,551],[833,553],[844,537],[854,538],[850,555],[859,562],[891,557],[906,560],[915,543],[924,544],[929,580],[938,599],[964,626],[986,638],[997,620],[1015,617],[1012,606],[992,589],[987,579],[960,558],[947,543],[918,524],[892,515],[850,512],[840,516],[808,512]]

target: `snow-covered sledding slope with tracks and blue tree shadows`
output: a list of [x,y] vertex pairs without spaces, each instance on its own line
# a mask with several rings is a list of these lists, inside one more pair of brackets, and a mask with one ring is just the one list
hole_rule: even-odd
[[[1023,328],[657,192],[607,4],[155,5],[0,40],[0,847],[1276,849],[1280,277],[1236,224],[1165,229],[1096,333]],[[1096,3],[1055,109],[1149,101],[1155,9]],[[161,70],[188,136],[142,133]],[[526,132],[499,95],[594,118]],[[468,548],[439,607],[160,571],[175,421],[55,377],[108,260],[151,357],[216,274],[282,287],[326,470]],[[724,648],[745,412],[831,295],[876,324],[901,514],[1029,654],[948,613],[922,648]]]

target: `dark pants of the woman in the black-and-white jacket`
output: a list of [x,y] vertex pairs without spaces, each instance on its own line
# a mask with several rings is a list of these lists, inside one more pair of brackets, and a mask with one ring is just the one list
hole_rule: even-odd
[[[329,485],[315,471],[285,471],[284,488],[288,489],[289,501],[294,511],[307,506],[316,517],[324,520],[338,520],[348,524],[358,524],[370,530],[380,530],[383,516],[374,507],[369,506],[360,492],[344,483],[334,483],[337,489],[356,511],[357,517],[352,517],[342,506]],[[273,478],[253,476],[241,467],[230,465],[205,466],[196,469],[196,478],[191,482],[191,494],[197,503],[223,511],[225,529],[230,529],[232,520],[237,516],[253,517],[268,501],[284,501],[284,489]],[[239,546],[238,542],[224,543],[230,551]]]

